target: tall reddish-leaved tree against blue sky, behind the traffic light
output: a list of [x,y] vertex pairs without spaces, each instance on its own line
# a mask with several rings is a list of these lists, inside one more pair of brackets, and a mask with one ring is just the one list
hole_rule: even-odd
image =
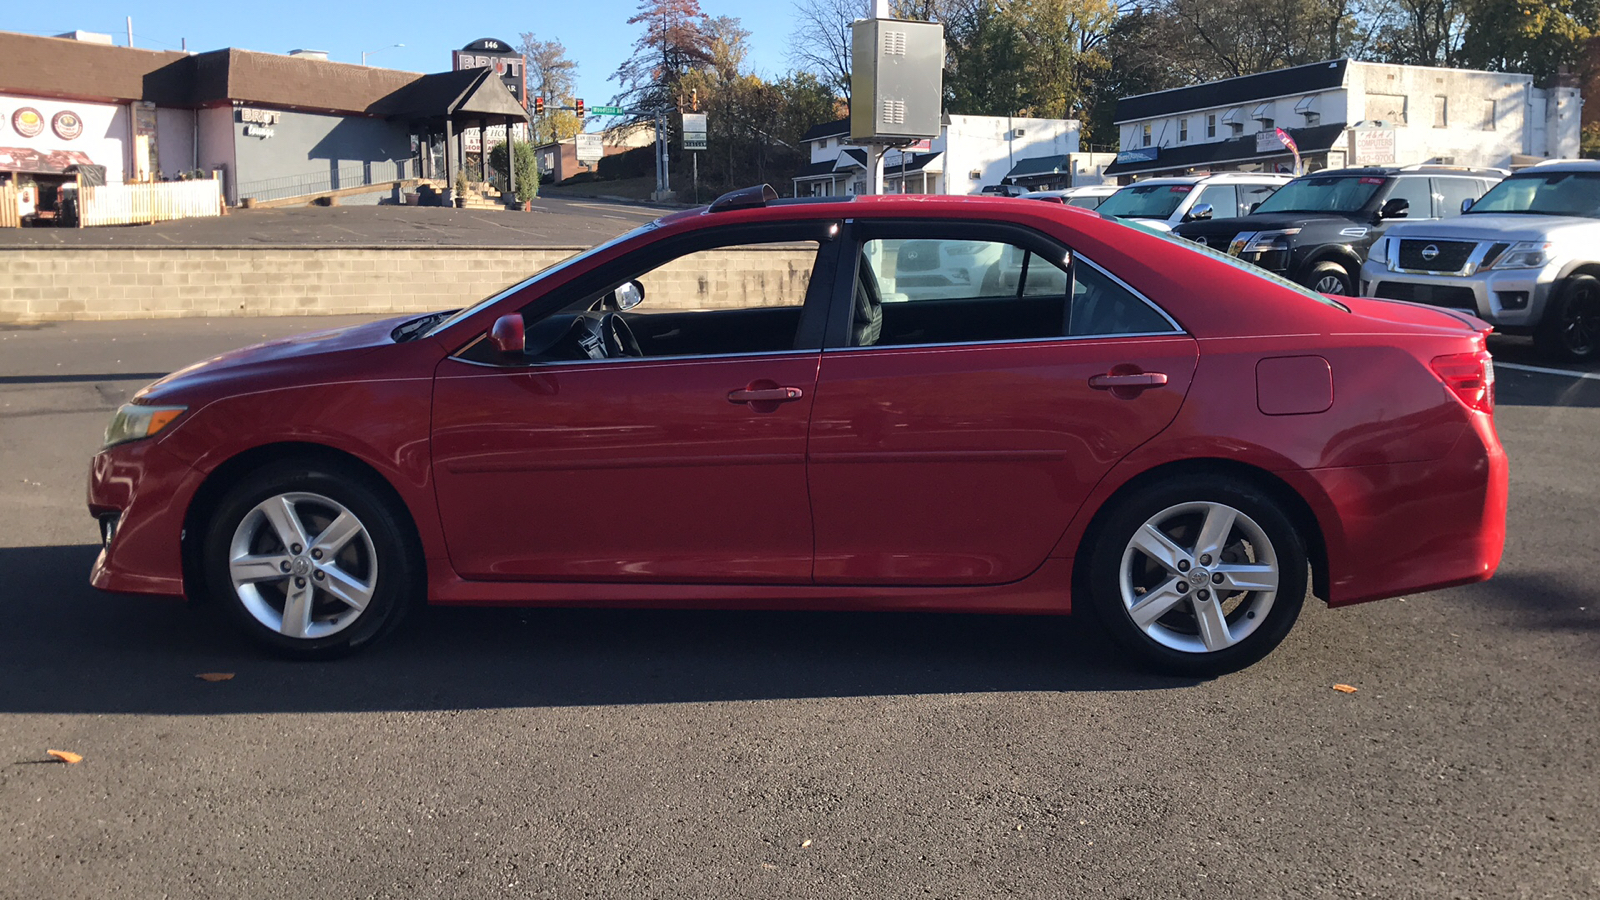
[[642,0],[627,24],[643,24],[645,34],[611,75],[621,86],[611,102],[643,110],[637,120],[666,115],[678,106],[678,82],[712,62],[709,18],[698,0]]

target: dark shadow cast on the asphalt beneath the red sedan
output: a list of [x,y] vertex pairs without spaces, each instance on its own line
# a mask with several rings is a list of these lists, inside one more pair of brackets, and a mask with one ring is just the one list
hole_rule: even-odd
[[[286,661],[216,610],[88,586],[94,546],[0,549],[0,713],[331,713],[968,692],[1158,690],[1069,617],[426,609]],[[224,682],[200,673],[232,673]]]

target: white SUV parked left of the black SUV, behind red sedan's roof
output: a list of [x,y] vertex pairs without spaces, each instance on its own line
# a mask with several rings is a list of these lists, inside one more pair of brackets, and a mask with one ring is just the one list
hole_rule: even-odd
[[1182,223],[1248,216],[1256,203],[1290,181],[1293,178],[1288,175],[1262,171],[1147,178],[1106,197],[1096,211],[1173,231]]

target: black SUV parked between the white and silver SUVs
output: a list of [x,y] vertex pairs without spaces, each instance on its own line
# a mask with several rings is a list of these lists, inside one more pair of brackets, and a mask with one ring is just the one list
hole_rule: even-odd
[[1304,175],[1235,219],[1190,221],[1173,229],[1315,291],[1354,295],[1366,250],[1397,219],[1461,213],[1506,173],[1494,168],[1414,165],[1336,168]]

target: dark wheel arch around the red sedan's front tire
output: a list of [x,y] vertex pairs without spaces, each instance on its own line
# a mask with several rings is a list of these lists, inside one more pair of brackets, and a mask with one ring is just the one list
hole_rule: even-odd
[[374,469],[360,456],[326,444],[282,440],[275,444],[261,444],[229,456],[219,466],[211,469],[205,480],[200,482],[200,487],[195,488],[194,496],[189,500],[189,509],[184,511],[184,530],[179,549],[182,554],[184,593],[192,602],[198,601],[203,593],[202,586],[205,585],[205,575],[200,570],[200,544],[205,536],[205,524],[211,517],[211,512],[216,511],[218,503],[221,503],[222,496],[227,495],[229,488],[251,472],[288,460],[315,460],[347,469],[366,480],[368,487],[384,495],[384,498],[389,500],[400,514],[403,514],[405,538],[411,544],[418,565],[424,569],[426,575],[427,554],[422,552],[422,540],[418,533],[416,517],[411,512],[411,506],[382,472]]

